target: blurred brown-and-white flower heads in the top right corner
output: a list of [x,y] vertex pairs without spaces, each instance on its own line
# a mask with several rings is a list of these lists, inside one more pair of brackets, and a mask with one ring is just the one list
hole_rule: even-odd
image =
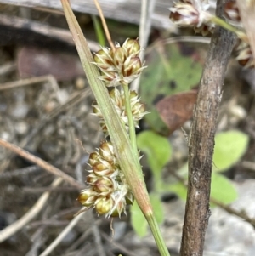
[[[196,33],[206,36],[213,31],[214,24],[211,22],[212,15],[207,12],[209,8],[207,0],[201,0],[196,6],[190,0],[180,0],[170,8],[170,20],[178,26],[193,26]],[[225,16],[232,21],[241,22],[239,9],[235,1],[230,1],[224,5]],[[252,51],[248,43],[241,42],[236,48],[240,65],[246,68],[254,67]]]

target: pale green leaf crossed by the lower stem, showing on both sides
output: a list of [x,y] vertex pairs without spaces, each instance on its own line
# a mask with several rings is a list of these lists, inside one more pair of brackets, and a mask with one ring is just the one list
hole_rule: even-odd
[[[160,196],[156,193],[150,194],[150,202],[155,213],[156,222],[161,224],[164,220],[164,213]],[[133,226],[133,230],[137,233],[138,236],[146,236],[148,223],[136,201],[133,202],[133,206],[131,208],[131,224]]]

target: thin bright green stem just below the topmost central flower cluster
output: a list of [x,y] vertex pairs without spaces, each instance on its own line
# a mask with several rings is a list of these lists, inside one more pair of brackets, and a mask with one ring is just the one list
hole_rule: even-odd
[[133,147],[133,152],[136,154],[136,156],[138,156],[135,126],[133,122],[133,113],[132,113],[131,104],[130,104],[130,94],[129,94],[128,84],[125,82],[122,82],[122,88],[124,90],[124,95],[125,95],[125,111],[127,112],[129,137],[131,140],[131,145]]

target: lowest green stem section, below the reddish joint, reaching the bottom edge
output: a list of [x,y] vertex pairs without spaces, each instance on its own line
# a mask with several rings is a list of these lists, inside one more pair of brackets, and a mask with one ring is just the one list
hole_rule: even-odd
[[156,245],[158,250],[161,253],[161,256],[170,256],[170,253],[167,250],[166,243],[164,242],[163,236],[161,235],[161,230],[156,222],[155,215],[152,213],[150,216],[145,216],[148,224],[150,225],[150,230],[154,239],[156,241]]

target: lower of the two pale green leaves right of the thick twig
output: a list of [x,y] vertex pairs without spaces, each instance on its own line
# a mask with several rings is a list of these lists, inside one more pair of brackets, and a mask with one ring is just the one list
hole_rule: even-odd
[[238,194],[232,182],[223,175],[212,172],[211,197],[218,202],[234,202]]

